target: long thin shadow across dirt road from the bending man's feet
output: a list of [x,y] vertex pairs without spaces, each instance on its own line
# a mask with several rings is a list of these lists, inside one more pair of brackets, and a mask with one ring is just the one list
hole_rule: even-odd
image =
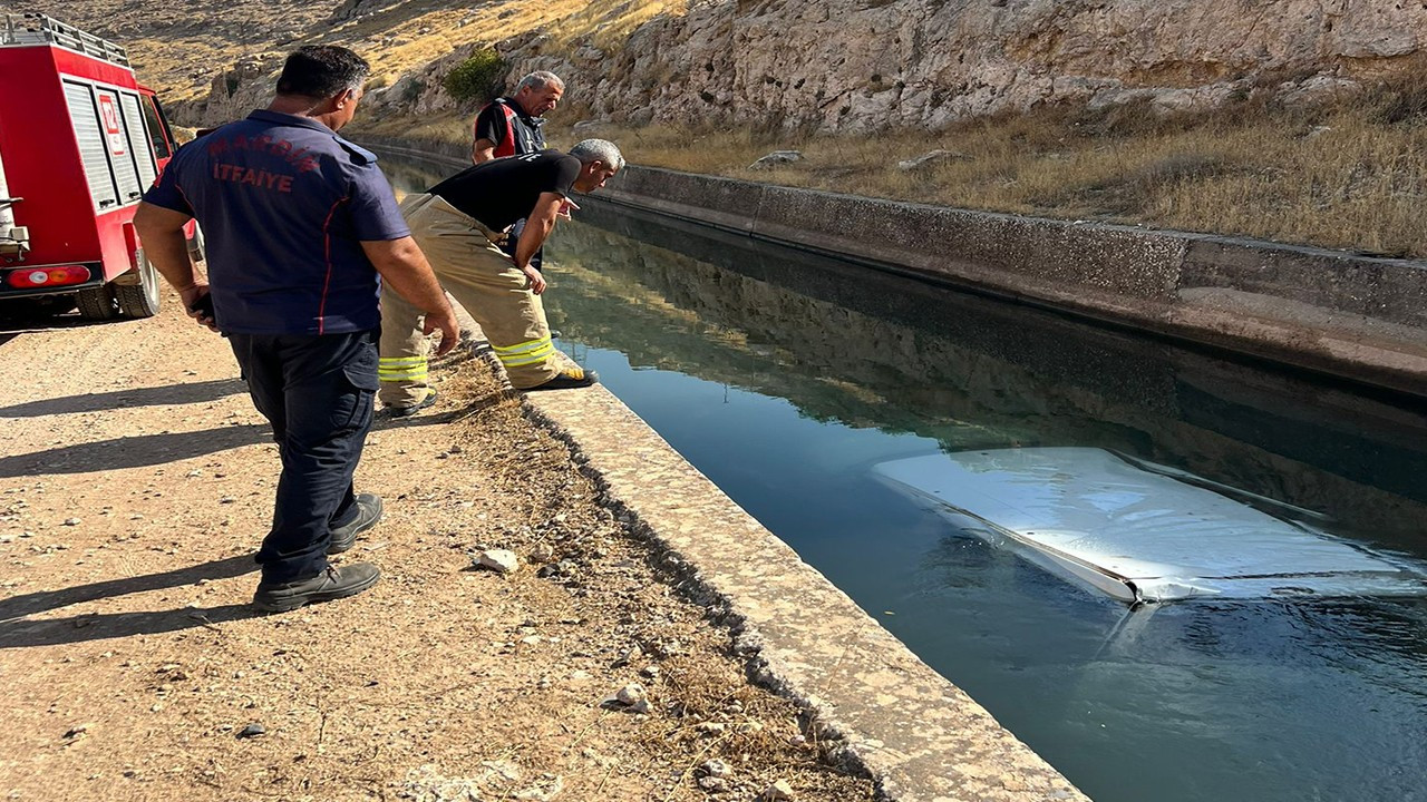
[[[400,420],[378,415],[372,421],[372,431],[378,432],[397,427],[430,427],[448,424],[472,415],[487,407],[492,407],[502,398],[504,395],[501,392],[494,392],[475,398],[459,410],[451,410],[437,415],[417,415]],[[260,442],[271,441],[273,428],[267,424],[243,424],[203,431],[116,437],[94,442],[80,442],[76,445],[50,448],[47,451],[0,457],[0,477],[87,474],[91,471],[120,471],[124,468],[166,465],[168,462],[191,460],[194,457],[215,454],[230,448],[257,445]]]

